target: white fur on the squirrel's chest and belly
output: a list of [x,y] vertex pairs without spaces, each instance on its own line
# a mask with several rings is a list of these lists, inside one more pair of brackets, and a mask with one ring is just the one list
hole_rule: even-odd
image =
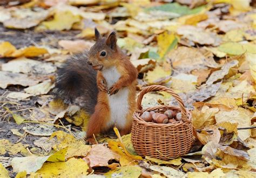
[[[106,79],[107,88],[110,88],[116,83],[121,76],[116,67],[104,69],[102,73]],[[111,116],[111,122],[107,124],[108,126],[116,124],[119,128],[125,127],[126,115],[129,110],[128,95],[129,89],[127,87],[120,89],[115,95],[107,95]]]

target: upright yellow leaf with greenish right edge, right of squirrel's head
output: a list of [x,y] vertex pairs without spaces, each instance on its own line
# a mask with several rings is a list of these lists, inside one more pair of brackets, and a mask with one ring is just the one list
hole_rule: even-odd
[[164,56],[177,46],[178,39],[174,33],[164,32],[157,36],[157,44],[160,59],[164,59]]

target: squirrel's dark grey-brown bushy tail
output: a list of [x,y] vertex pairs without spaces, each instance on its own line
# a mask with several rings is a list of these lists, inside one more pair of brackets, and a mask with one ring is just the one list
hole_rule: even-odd
[[58,70],[55,98],[81,106],[92,114],[97,104],[97,72],[87,64],[87,52],[71,56]]

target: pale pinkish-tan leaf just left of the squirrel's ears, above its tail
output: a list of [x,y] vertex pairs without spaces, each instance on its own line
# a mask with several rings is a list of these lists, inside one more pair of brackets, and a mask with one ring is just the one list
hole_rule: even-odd
[[93,45],[92,42],[85,40],[60,40],[58,44],[59,46],[72,53],[84,52],[86,50],[89,50]]

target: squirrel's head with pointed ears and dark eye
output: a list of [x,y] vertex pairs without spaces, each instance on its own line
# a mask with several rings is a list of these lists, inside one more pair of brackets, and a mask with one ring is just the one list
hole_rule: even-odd
[[107,38],[101,37],[95,28],[96,43],[89,51],[89,65],[95,70],[103,70],[114,65],[118,55],[116,32],[111,32]]

